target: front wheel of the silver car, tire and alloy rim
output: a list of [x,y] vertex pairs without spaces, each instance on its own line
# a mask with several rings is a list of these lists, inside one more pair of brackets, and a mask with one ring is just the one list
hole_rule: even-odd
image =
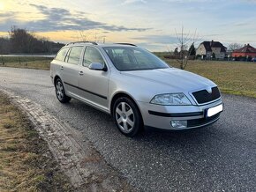
[[113,118],[117,128],[127,137],[136,136],[143,128],[139,108],[129,98],[118,98],[113,107]]

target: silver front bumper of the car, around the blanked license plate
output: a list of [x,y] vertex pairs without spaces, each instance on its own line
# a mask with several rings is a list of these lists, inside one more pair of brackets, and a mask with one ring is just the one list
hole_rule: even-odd
[[[222,104],[222,100],[203,106],[160,106],[146,102],[138,102],[144,125],[158,129],[193,129],[216,122],[220,113],[206,117],[206,110]],[[185,126],[177,128],[172,122],[185,122]]]

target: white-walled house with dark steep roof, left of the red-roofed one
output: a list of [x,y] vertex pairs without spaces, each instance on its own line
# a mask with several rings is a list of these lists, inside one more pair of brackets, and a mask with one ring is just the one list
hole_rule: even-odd
[[204,55],[211,58],[215,55],[216,59],[223,59],[226,55],[227,48],[219,41],[203,41],[197,48],[196,55]]

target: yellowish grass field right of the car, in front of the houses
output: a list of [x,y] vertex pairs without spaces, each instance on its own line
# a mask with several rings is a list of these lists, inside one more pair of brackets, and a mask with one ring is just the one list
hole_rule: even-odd
[[[176,60],[165,61],[179,68]],[[189,61],[185,70],[213,80],[224,93],[256,98],[256,63]]]

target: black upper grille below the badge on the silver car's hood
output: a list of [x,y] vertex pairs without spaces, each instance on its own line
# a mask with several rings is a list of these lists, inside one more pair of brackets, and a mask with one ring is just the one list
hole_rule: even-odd
[[212,93],[207,92],[207,90],[201,90],[198,92],[192,92],[192,95],[199,104],[217,100],[221,97],[221,93],[216,86],[212,88]]

